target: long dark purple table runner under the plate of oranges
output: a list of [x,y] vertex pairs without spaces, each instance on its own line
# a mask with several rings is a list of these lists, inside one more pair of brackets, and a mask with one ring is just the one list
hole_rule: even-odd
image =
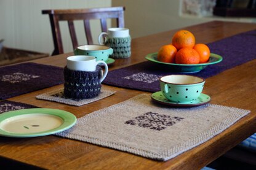
[[[234,68],[247,61],[254,60],[256,58],[255,44],[256,30],[212,42],[208,44],[210,52],[221,55],[223,61],[209,65],[202,71],[191,73],[189,75],[196,75],[206,79],[207,77],[212,77],[226,69]],[[166,66],[145,61],[108,72],[103,83],[116,87],[155,92],[160,90],[159,77],[169,74],[182,73],[170,71]]]

